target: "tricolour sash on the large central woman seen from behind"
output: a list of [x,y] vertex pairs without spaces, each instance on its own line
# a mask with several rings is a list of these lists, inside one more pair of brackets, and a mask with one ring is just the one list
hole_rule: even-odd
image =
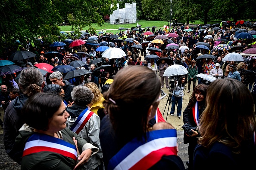
[[145,139],[127,143],[108,165],[108,170],[147,170],[163,156],[177,155],[176,129],[150,131]]

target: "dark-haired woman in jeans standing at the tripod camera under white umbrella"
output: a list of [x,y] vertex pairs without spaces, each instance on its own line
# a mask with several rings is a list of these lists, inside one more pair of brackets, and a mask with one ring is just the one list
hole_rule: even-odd
[[185,87],[185,84],[187,84],[187,80],[185,78],[185,76],[181,76],[179,79],[178,79],[178,83],[177,81],[175,81],[175,88],[174,88],[174,91],[173,91],[173,94],[172,94],[172,108],[171,108],[171,112],[170,114],[173,116],[174,115],[174,112],[175,112],[175,106],[176,106],[176,103],[177,103],[177,116],[178,118],[181,117],[181,108],[182,108],[182,97],[184,96],[184,87]]

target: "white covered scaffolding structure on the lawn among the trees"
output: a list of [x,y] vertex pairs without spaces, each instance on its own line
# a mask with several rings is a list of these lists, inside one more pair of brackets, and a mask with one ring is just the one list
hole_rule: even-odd
[[110,24],[136,23],[136,3],[125,3],[125,8],[123,9],[119,9],[118,3],[117,9],[110,15],[109,21]]

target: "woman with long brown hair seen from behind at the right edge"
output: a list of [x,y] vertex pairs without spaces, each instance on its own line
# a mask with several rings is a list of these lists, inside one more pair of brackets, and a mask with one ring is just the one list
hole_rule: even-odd
[[256,121],[248,88],[234,79],[217,79],[207,89],[206,103],[194,170],[255,169]]

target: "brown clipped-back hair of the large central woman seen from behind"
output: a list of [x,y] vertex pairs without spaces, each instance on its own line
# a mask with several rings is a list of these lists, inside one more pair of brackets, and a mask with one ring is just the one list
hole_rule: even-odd
[[117,137],[128,142],[147,132],[148,110],[159,97],[160,88],[156,73],[147,67],[128,66],[116,74],[111,88],[103,94],[103,105]]

